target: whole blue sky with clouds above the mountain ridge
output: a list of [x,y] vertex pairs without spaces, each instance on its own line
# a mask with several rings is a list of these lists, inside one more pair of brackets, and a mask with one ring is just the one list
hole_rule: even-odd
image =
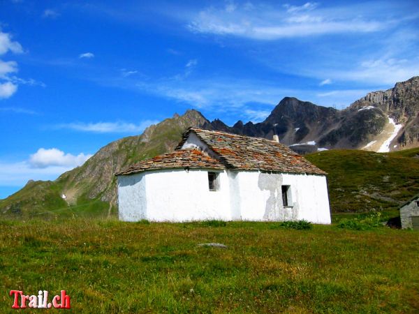
[[416,1],[0,0],[0,198],[175,112],[262,121],[419,75]]

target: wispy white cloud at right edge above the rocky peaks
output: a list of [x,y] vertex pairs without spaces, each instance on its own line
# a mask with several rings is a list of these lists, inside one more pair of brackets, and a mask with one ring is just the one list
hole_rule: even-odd
[[325,42],[316,54],[318,44],[313,43],[307,51],[312,50],[314,54],[302,54],[299,60],[290,57],[288,62],[278,62],[268,54],[261,55],[258,60],[283,73],[310,77],[319,82],[330,80],[332,84],[346,87],[353,87],[356,82],[356,86],[372,90],[389,89],[396,82],[419,75],[418,40],[419,35],[409,29],[397,30],[385,38],[369,36],[365,43],[356,40],[354,51],[347,50],[345,43],[341,43],[344,47],[337,47],[333,42]]

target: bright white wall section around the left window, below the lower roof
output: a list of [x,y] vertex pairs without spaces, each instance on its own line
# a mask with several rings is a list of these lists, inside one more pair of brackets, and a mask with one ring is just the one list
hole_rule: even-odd
[[[208,171],[218,172],[219,190],[208,188]],[[231,220],[226,171],[147,172],[147,219],[153,221]]]

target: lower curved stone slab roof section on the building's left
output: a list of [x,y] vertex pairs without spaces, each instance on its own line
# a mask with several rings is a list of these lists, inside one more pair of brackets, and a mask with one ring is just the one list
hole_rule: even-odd
[[198,149],[181,149],[172,153],[156,156],[151,159],[135,163],[116,175],[134,174],[145,170],[175,169],[175,168],[208,168],[225,169],[225,166],[208,154]]

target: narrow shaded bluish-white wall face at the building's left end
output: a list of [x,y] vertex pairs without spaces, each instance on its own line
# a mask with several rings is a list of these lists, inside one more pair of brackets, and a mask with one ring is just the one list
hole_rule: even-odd
[[119,220],[147,219],[145,172],[118,177]]

